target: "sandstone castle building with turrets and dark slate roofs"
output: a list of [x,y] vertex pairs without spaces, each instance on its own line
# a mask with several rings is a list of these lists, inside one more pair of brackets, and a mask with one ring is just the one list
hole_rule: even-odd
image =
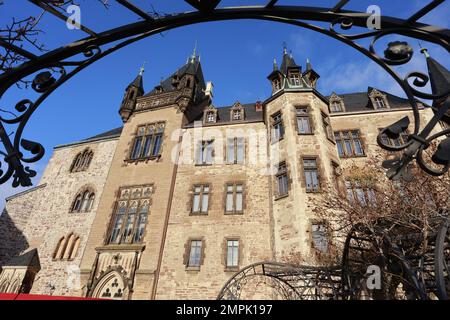
[[[376,88],[322,95],[311,63],[286,50],[263,102],[215,106],[195,54],[150,92],[143,73],[123,127],[57,146],[40,183],[6,199],[0,292],[214,299],[249,264],[292,253],[314,264],[333,240],[310,199],[326,184],[370,197],[342,168],[413,119],[408,100]],[[422,104],[423,122],[432,115]]]

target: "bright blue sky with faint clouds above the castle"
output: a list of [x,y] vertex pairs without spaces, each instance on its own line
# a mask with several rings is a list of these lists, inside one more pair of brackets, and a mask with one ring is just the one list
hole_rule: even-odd
[[[225,0],[222,6],[259,5],[268,0]],[[40,9],[25,0],[3,0],[0,6],[0,23],[5,25],[13,16],[37,15]],[[118,23],[134,22],[138,17],[109,0],[111,7],[105,10],[93,0],[78,0],[82,8],[82,24],[95,31],[104,31]],[[190,11],[181,0],[134,0],[147,11],[153,8],[161,13]],[[280,4],[332,6],[338,0],[281,0]],[[416,12],[425,0],[353,0],[348,9],[366,11],[369,5],[379,5],[382,15],[406,18]],[[421,21],[450,28],[450,3]],[[325,26],[325,25],[324,25]],[[77,30],[68,30],[63,21],[44,14],[40,36],[46,48],[52,49],[85,37]],[[387,38],[387,40],[397,40]],[[309,30],[285,24],[256,20],[212,22],[192,25],[165,32],[128,46],[93,64],[79,73],[52,94],[35,112],[27,125],[24,138],[41,142],[46,148],[44,159],[33,167],[42,173],[54,146],[93,136],[121,125],[118,108],[125,87],[134,79],[144,61],[147,61],[144,86],[150,91],[162,77],[170,75],[186,62],[195,42],[201,54],[206,80],[214,83],[214,103],[225,106],[264,100],[270,94],[266,76],[271,72],[272,61],[281,59],[282,43],[286,42],[298,64],[310,58],[313,67],[321,75],[319,91],[324,95],[332,91],[347,93],[364,91],[368,86],[401,94],[399,87],[374,63],[354,49]],[[386,41],[385,41],[386,42]],[[419,54],[417,40],[409,39],[415,56],[407,67],[399,72],[426,71],[423,56]],[[367,44],[367,41],[364,42]],[[430,53],[450,68],[448,53],[434,45],[423,43]],[[384,50],[379,46],[380,52]],[[2,100],[0,107],[12,110],[14,104],[24,98],[35,97],[28,90],[13,89]],[[37,177],[34,181],[38,183]],[[0,186],[0,208],[6,196],[14,194],[10,183]]]

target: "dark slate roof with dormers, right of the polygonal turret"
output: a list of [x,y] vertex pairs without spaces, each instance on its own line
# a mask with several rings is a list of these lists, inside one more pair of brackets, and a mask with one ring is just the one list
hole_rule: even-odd
[[[369,87],[366,92],[344,93],[344,94],[337,94],[337,96],[344,99],[345,112],[373,111],[374,108],[372,106],[372,102],[369,99],[369,93],[373,89],[374,88]],[[386,98],[389,102],[389,106],[391,109],[403,109],[411,107],[408,99],[395,96],[382,90],[378,91],[386,95]],[[331,96],[328,96],[326,98],[330,99],[330,97]]]

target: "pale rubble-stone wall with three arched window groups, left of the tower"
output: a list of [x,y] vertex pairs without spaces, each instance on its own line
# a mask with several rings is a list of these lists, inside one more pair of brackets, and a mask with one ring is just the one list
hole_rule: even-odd
[[[103,191],[117,138],[81,142],[55,148],[38,187],[7,199],[0,217],[2,260],[37,248],[41,262],[31,293],[74,295],[75,281],[87,237]],[[84,150],[94,157],[85,171],[71,172],[75,157]],[[89,212],[71,212],[77,194],[88,187],[95,193]],[[54,259],[58,242],[73,233],[80,239],[73,258]],[[5,245],[5,247],[3,247]],[[6,252],[6,254],[5,254]],[[11,269],[11,268],[9,268]]]

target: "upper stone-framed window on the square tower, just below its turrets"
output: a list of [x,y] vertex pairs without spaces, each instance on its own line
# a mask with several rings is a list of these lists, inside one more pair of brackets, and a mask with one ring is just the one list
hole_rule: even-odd
[[164,123],[151,123],[138,127],[133,142],[131,159],[147,159],[158,157],[164,134]]

